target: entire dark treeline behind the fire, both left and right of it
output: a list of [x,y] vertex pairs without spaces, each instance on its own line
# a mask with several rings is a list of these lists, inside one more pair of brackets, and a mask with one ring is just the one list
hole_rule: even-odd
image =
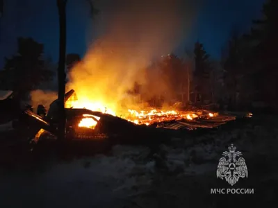
[[[156,88],[155,96],[140,93],[144,86],[138,83],[131,93],[140,94],[156,106],[179,101],[184,105],[218,103],[230,110],[250,110],[259,105],[277,110],[277,10],[278,1],[270,0],[263,6],[263,18],[253,21],[249,33],[231,33],[221,60],[211,59],[202,42],[196,42],[194,50],[185,53],[183,58],[174,54],[163,56],[147,69],[147,80],[155,78],[162,83],[159,90],[153,86],[157,82],[145,86],[148,92]],[[19,37],[17,43],[17,53],[6,58],[0,71],[0,88],[23,95],[52,80],[57,65],[43,58],[43,44],[24,37]],[[79,61],[79,54],[68,54],[67,71]],[[153,74],[154,71],[159,73]]]

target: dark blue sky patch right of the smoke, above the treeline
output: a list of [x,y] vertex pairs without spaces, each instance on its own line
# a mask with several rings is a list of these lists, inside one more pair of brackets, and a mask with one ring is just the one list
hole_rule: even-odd
[[206,0],[199,12],[193,37],[204,42],[208,53],[220,56],[220,49],[236,27],[241,33],[250,30],[252,19],[261,17],[265,0]]

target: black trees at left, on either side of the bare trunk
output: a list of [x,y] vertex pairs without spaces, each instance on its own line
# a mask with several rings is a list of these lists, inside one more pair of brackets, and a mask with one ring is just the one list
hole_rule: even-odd
[[[70,70],[74,63],[80,60],[78,54],[68,54],[67,69]],[[0,70],[0,89],[13,90],[20,99],[28,97],[29,92],[35,89],[57,91],[57,85],[49,85],[56,76],[57,67],[57,63],[44,56],[43,44],[31,37],[19,37],[17,53],[5,58],[4,67]]]

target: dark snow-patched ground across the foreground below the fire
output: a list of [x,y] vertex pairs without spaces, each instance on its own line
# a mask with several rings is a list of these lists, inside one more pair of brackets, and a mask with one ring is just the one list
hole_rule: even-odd
[[[59,162],[45,155],[32,168],[1,166],[0,207],[277,207],[277,124],[275,116],[255,115],[218,130],[181,133],[161,146],[166,159],[147,159],[147,147],[114,146],[110,155]],[[233,187],[216,177],[231,143],[248,168]],[[6,157],[1,154],[2,163]],[[254,194],[211,194],[231,188]]]

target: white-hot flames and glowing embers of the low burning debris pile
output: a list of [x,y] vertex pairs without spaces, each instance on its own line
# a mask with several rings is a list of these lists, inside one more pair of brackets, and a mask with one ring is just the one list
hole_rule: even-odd
[[[116,116],[117,113],[113,110],[108,110],[104,105],[95,103],[79,102],[76,94],[73,94],[65,103],[66,108],[85,108],[92,112],[101,112]],[[251,116],[248,114],[247,116]],[[236,119],[236,116],[229,114],[219,114],[208,110],[126,110],[126,114],[121,116],[122,119],[134,123],[136,125],[149,125],[156,128],[170,128],[194,130],[197,128],[215,128],[219,125]],[[81,128],[95,129],[100,117],[90,114],[83,114],[79,122]]]

